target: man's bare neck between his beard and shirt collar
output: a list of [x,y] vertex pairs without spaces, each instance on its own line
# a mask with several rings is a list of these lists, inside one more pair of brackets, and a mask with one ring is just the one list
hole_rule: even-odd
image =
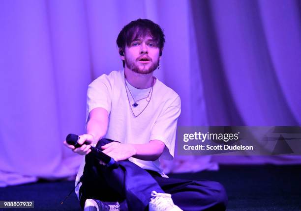
[[150,88],[152,85],[152,79],[153,79],[152,73],[139,74],[125,67],[124,75],[126,80],[137,89],[147,89]]

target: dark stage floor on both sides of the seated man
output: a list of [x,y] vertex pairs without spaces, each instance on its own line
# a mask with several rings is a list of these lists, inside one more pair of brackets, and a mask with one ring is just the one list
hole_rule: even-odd
[[[221,166],[217,172],[169,176],[220,182],[229,197],[227,211],[301,211],[301,165]],[[0,200],[33,200],[34,210],[80,210],[74,192],[60,205],[73,187],[73,181],[10,186],[0,188]]]

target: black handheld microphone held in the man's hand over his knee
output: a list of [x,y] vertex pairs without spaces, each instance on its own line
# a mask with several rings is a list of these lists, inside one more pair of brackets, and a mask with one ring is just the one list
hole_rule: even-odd
[[[66,142],[69,145],[73,145],[75,148],[81,147],[82,145],[78,143],[79,140],[79,136],[76,134],[68,134],[66,137]],[[87,141],[85,141],[84,144],[89,145],[89,143]],[[110,156],[104,154],[102,151],[100,151],[99,149],[97,149],[96,147],[92,147],[91,146],[91,153],[93,154],[93,156],[95,158],[97,158],[98,160],[104,162],[106,164],[106,166],[112,166],[114,168],[117,168],[119,166],[119,164]]]

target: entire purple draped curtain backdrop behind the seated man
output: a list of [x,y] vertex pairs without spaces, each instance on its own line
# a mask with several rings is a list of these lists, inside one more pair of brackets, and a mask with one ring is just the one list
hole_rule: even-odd
[[[121,28],[164,29],[155,75],[179,93],[179,126],[301,125],[298,0],[0,1],[0,186],[69,178],[81,156],[62,145],[85,132],[88,84],[122,69]],[[167,171],[300,157],[178,157]]]

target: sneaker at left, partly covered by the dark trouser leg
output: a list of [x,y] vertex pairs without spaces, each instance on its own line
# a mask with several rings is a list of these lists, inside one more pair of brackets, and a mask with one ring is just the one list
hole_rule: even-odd
[[118,202],[102,202],[96,199],[87,199],[84,211],[120,211]]

